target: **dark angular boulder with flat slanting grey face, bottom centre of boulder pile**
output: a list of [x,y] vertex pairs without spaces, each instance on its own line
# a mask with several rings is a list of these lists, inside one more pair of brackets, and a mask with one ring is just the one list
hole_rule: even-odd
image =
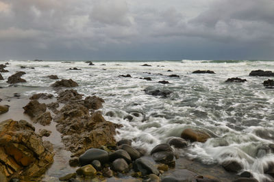
[[137,159],[134,164],[133,168],[136,172],[142,172],[142,175],[159,175],[159,171],[149,160],[145,160],[144,158]]

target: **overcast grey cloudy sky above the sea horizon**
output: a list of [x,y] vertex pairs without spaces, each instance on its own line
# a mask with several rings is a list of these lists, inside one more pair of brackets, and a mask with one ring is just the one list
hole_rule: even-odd
[[274,60],[274,0],[0,0],[0,60]]

